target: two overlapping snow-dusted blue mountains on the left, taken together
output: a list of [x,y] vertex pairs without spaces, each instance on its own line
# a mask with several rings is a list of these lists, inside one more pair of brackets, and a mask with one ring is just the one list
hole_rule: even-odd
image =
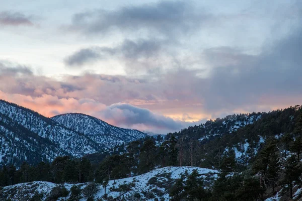
[[0,165],[52,161],[60,155],[82,157],[145,136],[86,115],[47,118],[0,100]]

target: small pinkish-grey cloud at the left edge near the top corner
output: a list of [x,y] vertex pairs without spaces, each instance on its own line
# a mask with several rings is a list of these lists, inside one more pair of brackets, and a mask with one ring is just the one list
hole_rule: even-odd
[[18,12],[0,12],[0,25],[3,26],[33,26],[31,18]]

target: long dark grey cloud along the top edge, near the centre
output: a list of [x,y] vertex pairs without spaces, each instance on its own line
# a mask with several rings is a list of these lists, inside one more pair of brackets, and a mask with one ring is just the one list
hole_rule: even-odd
[[196,12],[189,1],[163,1],[115,11],[95,10],[75,14],[70,29],[88,34],[115,29],[123,32],[146,29],[171,36],[197,29],[208,17],[203,11]]

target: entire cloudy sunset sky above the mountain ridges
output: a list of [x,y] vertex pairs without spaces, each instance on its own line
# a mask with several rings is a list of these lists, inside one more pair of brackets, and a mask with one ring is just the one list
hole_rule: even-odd
[[0,99],[168,133],[302,103],[302,3],[0,0]]

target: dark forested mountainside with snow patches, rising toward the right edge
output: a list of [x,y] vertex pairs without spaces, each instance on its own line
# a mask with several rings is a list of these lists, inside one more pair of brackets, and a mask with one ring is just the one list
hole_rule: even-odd
[[292,133],[300,114],[301,107],[295,106],[268,113],[229,115],[169,133],[166,139],[172,135],[179,139],[184,149],[184,164],[190,163],[193,142],[195,166],[219,167],[222,156],[230,151],[244,165],[253,161],[268,138]]

